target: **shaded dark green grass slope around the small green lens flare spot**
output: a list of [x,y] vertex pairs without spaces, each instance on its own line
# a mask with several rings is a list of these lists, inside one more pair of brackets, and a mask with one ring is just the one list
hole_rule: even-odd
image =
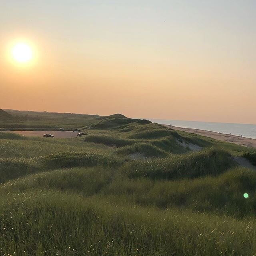
[[[244,198],[244,193],[249,197]],[[140,206],[176,207],[237,218],[255,216],[256,173],[236,168],[217,177],[194,180],[128,179],[120,175],[103,188],[102,194]]]

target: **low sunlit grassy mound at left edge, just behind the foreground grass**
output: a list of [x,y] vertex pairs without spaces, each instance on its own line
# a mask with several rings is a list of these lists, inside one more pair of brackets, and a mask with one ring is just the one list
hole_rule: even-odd
[[66,168],[9,180],[0,185],[2,194],[30,190],[60,190],[90,196],[100,192],[113,178],[110,168]]

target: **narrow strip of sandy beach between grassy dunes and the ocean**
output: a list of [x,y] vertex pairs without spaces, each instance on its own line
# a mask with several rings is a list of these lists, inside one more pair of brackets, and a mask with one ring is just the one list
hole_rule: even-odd
[[190,133],[210,137],[210,138],[213,138],[216,140],[222,140],[222,141],[238,144],[238,145],[245,146],[245,147],[256,148],[256,139],[239,137],[239,136],[231,135],[231,134],[223,134],[223,133],[218,133],[218,132],[210,132],[210,131],[205,131],[205,130],[192,129],[192,128],[182,128],[182,127],[176,127],[176,126],[172,126],[172,125],[165,125],[165,126],[172,128],[173,130],[190,132]]

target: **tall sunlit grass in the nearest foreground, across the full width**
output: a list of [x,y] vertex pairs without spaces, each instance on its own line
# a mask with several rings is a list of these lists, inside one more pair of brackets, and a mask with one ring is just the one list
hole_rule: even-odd
[[253,255],[256,226],[176,209],[112,205],[57,191],[0,201],[2,254]]

